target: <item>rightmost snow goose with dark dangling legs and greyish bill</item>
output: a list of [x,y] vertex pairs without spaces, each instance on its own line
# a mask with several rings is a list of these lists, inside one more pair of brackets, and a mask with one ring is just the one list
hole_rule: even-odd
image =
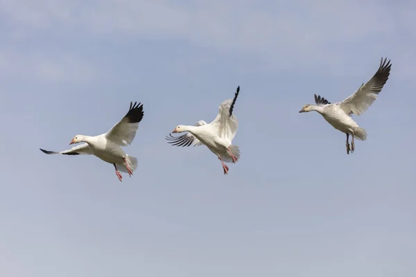
[[[343,102],[331,104],[325,98],[315,94],[316,105],[304,105],[299,112],[318,111],[322,114],[325,120],[335,129],[347,134],[347,143],[345,143],[347,154],[350,151],[353,153],[355,150],[354,138],[365,141],[367,132],[365,132],[365,129],[358,127],[351,116],[352,114],[361,116],[372,105],[388,80],[391,66],[390,60],[387,62],[387,58],[383,60],[383,57],[381,57],[379,69],[374,76],[367,83],[361,84],[357,91]],[[349,134],[352,135],[351,149],[348,142]]]

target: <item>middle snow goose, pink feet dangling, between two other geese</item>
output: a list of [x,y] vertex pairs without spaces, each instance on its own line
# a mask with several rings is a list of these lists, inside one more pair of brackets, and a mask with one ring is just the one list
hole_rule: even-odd
[[233,114],[234,105],[239,96],[240,86],[237,87],[234,99],[225,100],[219,106],[219,111],[211,123],[199,120],[196,125],[177,125],[172,133],[182,133],[182,136],[166,136],[168,143],[176,146],[207,145],[207,148],[217,155],[223,164],[224,175],[228,173],[228,166],[224,162],[236,163],[240,159],[240,149],[232,145],[232,139],[236,135],[239,121]]

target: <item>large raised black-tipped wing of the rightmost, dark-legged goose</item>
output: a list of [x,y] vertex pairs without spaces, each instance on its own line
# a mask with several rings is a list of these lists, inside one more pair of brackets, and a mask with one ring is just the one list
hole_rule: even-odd
[[372,105],[376,100],[385,82],[390,75],[390,60],[386,63],[387,58],[381,58],[380,67],[374,76],[366,83],[361,84],[361,87],[356,92],[349,96],[349,98],[340,102],[340,108],[347,114],[356,114],[360,116],[364,111]]

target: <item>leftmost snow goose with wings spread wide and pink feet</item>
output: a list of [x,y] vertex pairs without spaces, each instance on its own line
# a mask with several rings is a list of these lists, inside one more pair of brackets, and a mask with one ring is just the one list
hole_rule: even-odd
[[139,129],[139,122],[143,116],[143,105],[141,103],[137,104],[137,102],[135,104],[130,102],[128,113],[107,133],[98,136],[77,134],[69,144],[82,142],[83,144],[77,145],[69,150],[61,152],[40,150],[46,154],[95,155],[107,163],[112,163],[116,170],[116,175],[121,181],[123,177],[121,177],[119,170],[128,173],[131,177],[133,171],[137,168],[137,159],[125,154],[121,146],[130,145],[133,139],[135,139],[137,129]]

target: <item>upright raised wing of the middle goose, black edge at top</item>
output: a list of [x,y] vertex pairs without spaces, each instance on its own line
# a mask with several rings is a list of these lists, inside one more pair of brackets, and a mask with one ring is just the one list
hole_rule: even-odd
[[228,99],[222,102],[216,118],[209,123],[212,127],[217,129],[220,138],[227,139],[230,142],[234,139],[234,136],[236,136],[237,129],[239,128],[239,121],[232,113],[239,92],[240,86],[237,87],[234,99]]

